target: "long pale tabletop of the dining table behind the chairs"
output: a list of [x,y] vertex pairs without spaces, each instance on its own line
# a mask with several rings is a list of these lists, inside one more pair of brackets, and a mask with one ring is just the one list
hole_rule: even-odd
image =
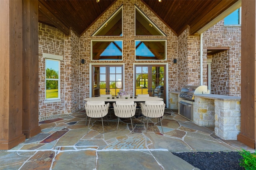
[[111,97],[108,99],[107,97],[92,97],[92,98],[84,98],[85,101],[104,101],[104,102],[116,102],[116,101],[133,101],[133,102],[145,102],[145,101],[160,101],[163,100],[162,98],[158,97],[134,97],[128,99],[125,98],[116,98],[112,99]]

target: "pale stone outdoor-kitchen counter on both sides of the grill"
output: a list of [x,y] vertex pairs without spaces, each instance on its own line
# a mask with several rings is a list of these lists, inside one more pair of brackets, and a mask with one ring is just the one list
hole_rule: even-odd
[[[182,100],[178,92],[171,92],[170,109],[176,109]],[[177,104],[174,104],[178,98]],[[215,135],[225,140],[237,140],[240,132],[241,98],[217,94],[194,95],[194,123],[215,127]],[[171,101],[174,101],[171,104]],[[179,109],[179,107],[178,107]],[[179,111],[178,111],[179,113]]]

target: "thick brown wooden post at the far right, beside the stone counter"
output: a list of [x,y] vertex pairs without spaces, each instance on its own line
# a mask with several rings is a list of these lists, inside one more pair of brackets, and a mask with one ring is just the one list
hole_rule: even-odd
[[242,0],[241,128],[237,140],[256,148],[255,0]]

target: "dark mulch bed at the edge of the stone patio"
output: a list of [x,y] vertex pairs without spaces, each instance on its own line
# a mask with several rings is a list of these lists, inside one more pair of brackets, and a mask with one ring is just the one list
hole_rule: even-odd
[[172,152],[200,170],[244,170],[238,152]]

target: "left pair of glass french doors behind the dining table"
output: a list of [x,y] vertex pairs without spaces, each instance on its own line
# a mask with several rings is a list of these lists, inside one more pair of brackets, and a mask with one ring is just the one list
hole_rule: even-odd
[[117,96],[117,92],[123,88],[122,65],[93,65],[92,77],[92,97],[101,94]]

